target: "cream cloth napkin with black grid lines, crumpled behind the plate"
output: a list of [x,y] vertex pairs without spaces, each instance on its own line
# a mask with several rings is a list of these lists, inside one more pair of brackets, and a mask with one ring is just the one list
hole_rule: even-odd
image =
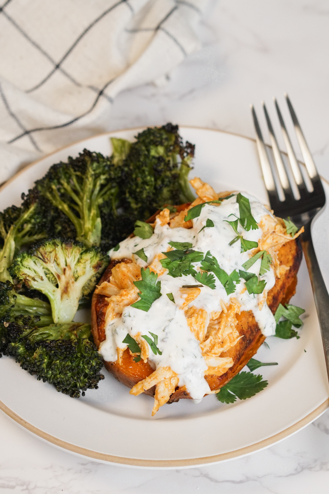
[[108,130],[113,99],[199,47],[208,0],[7,0],[0,6],[0,183]]

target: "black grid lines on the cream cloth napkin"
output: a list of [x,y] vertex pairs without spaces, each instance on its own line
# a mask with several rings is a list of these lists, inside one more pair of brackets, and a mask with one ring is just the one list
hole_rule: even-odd
[[[83,117],[85,117],[86,115],[88,115],[89,113],[92,112],[92,110],[95,108],[95,106],[97,105],[97,103],[98,103],[98,101],[99,101],[99,99],[101,97],[105,98],[110,104],[113,102],[112,101],[112,98],[105,93],[105,90],[110,86],[110,84],[114,81],[114,79],[111,79],[110,81],[108,81],[102,88],[98,88],[98,87],[95,87],[95,86],[92,86],[92,85],[85,86],[85,85],[81,84],[80,82],[76,81],[68,73],[67,70],[64,70],[63,67],[62,67],[62,64],[63,64],[63,62],[68,57],[70,57],[70,54],[73,52],[74,48],[78,45],[78,43],[85,36],[88,35],[88,33],[101,21],[101,19],[103,19],[104,17],[108,16],[111,12],[114,11],[114,9],[116,7],[118,7],[121,4],[125,4],[125,5],[127,5],[127,8],[129,8],[129,10],[132,12],[132,14],[134,14],[134,9],[133,9],[131,3],[129,3],[129,0],[118,0],[116,3],[114,3],[109,8],[107,8],[102,14],[100,14],[96,19],[94,19],[79,34],[79,36],[76,38],[76,40],[73,42],[73,44],[62,55],[62,57],[60,58],[60,60],[56,62],[53,59],[53,57],[51,57],[36,41],[34,41],[24,31],[24,29],[22,29],[22,27],[19,26],[19,24],[15,21],[15,19],[13,19],[13,17],[11,15],[9,15],[5,11],[5,7],[8,5],[8,3],[13,2],[13,1],[14,0],[6,0],[2,4],[2,6],[0,6],[0,15],[2,14],[7,19],[7,21],[10,22],[10,24],[20,33],[20,35],[23,36],[27,41],[29,41],[48,60],[48,62],[50,62],[53,65],[53,68],[49,71],[49,73],[41,81],[39,81],[34,87],[31,87],[30,89],[26,90],[26,93],[32,93],[32,92],[36,91],[43,84],[45,84],[47,81],[49,81],[49,79],[51,79],[51,77],[56,73],[56,71],[60,71],[75,86],[87,87],[88,89],[90,89],[91,91],[93,91],[94,93],[96,93],[95,99],[94,99],[93,103],[91,104],[90,108],[87,111],[85,111],[84,113],[82,113],[80,115],[77,115],[76,117],[73,117],[68,122],[65,122],[63,124],[58,124],[58,125],[42,126],[42,127],[40,126],[40,127],[37,127],[37,128],[30,128],[30,129],[28,129],[21,122],[21,120],[17,117],[17,115],[15,115],[15,113],[12,110],[12,108],[10,108],[10,106],[8,104],[8,101],[7,101],[7,98],[6,98],[6,96],[5,96],[4,92],[3,92],[3,88],[0,87],[0,98],[2,99],[2,102],[3,102],[3,104],[4,104],[4,106],[5,106],[6,110],[7,110],[7,112],[15,120],[15,122],[19,125],[19,127],[22,129],[22,132],[20,134],[16,135],[15,137],[13,137],[9,141],[7,141],[7,143],[8,144],[11,144],[11,143],[14,143],[14,142],[18,141],[19,139],[21,139],[21,138],[23,138],[25,136],[28,136],[29,139],[30,139],[30,141],[31,141],[31,143],[33,144],[34,148],[37,151],[41,151],[40,150],[40,147],[38,146],[38,144],[36,142],[36,137],[35,136],[32,136],[32,134],[34,134],[36,132],[40,132],[40,131],[54,130],[54,129],[59,129],[59,128],[67,127],[67,126],[69,126],[69,125],[77,122],[78,120],[82,119]],[[196,7],[194,7],[194,5],[190,4],[188,1],[176,0],[176,6],[174,6],[155,27],[146,28],[146,29],[130,30],[130,31],[127,30],[127,31],[130,32],[130,33],[136,33],[137,34],[139,32],[143,32],[143,31],[152,31],[152,32],[155,33],[157,31],[161,30],[172,41],[175,42],[175,44],[181,49],[183,55],[186,56],[186,51],[183,48],[183,46],[181,45],[181,43],[176,39],[176,37],[173,34],[171,34],[167,29],[165,29],[163,27],[163,24],[165,23],[165,21],[179,8],[179,5],[180,4],[184,4],[186,6],[190,6],[191,8],[198,10]]]

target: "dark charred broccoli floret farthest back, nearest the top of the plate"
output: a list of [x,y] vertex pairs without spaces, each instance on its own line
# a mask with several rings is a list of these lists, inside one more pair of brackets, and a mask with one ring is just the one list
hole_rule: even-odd
[[187,175],[194,146],[183,144],[178,125],[147,128],[136,139],[123,162],[122,189],[139,218],[164,204],[193,201]]

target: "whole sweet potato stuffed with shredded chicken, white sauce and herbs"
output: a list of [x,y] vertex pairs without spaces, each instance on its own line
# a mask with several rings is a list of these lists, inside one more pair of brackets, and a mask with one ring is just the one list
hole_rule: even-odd
[[159,211],[110,252],[92,300],[105,367],[132,394],[154,395],[152,414],[218,391],[247,364],[302,257],[298,234],[254,198],[191,183],[192,204]]

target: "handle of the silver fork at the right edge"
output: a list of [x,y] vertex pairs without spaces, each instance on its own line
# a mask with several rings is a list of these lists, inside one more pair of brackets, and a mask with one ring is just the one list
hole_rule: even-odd
[[305,231],[300,237],[308,273],[311,279],[329,375],[329,294],[314,250],[311,237],[311,223],[305,226]]

